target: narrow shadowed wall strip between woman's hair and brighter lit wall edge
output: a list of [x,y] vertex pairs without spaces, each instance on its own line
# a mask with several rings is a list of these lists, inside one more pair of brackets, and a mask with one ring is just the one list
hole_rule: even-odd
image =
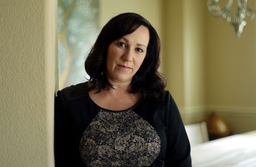
[[184,106],[183,1],[163,1],[162,68],[169,90],[179,109]]

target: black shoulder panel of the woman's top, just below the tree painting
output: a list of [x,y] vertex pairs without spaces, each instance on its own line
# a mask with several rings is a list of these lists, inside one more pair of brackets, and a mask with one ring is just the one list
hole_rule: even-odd
[[65,87],[57,92],[58,96],[61,94],[66,101],[86,95],[87,82],[79,83]]

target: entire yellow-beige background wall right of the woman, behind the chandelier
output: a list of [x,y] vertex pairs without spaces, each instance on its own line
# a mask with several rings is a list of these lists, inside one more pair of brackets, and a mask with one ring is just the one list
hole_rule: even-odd
[[[234,133],[256,129],[256,19],[246,20],[238,39],[228,23],[207,12],[206,2],[163,0],[167,89],[185,124],[214,110]],[[256,9],[255,0],[248,5]]]

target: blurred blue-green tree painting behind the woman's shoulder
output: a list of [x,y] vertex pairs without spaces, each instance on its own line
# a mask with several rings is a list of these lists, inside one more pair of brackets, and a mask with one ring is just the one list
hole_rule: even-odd
[[58,0],[60,90],[87,81],[84,61],[98,33],[98,0]]

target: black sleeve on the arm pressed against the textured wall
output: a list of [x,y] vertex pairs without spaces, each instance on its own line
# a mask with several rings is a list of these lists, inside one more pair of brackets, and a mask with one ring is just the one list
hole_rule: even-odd
[[69,145],[67,134],[70,134],[68,125],[67,104],[61,91],[57,92],[54,100],[54,159],[55,167],[69,166]]

